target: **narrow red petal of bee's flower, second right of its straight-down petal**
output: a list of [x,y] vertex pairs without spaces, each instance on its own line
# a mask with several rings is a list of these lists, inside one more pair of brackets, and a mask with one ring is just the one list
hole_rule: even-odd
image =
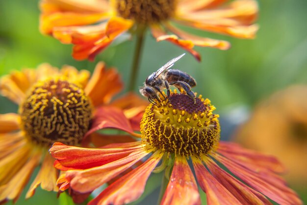
[[272,205],[265,196],[225,172],[210,158],[206,160],[206,165],[211,174],[243,205]]

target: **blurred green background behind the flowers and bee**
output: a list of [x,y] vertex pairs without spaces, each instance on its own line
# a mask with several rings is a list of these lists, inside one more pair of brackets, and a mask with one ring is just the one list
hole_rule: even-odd
[[[176,63],[177,69],[195,77],[198,86],[193,90],[209,98],[218,113],[227,115],[234,107],[252,110],[259,100],[276,90],[292,84],[307,84],[307,0],[259,0],[259,7],[260,29],[255,40],[193,30],[196,34],[229,40],[232,48],[229,51],[196,48],[201,53],[201,63],[189,54]],[[35,68],[43,62],[93,71],[97,61],[103,60],[108,66],[116,66],[128,84],[133,55],[130,51],[135,39],[119,39],[98,55],[95,62],[76,61],[71,57],[71,45],[62,45],[39,33],[38,19],[38,1],[0,1],[0,76],[11,70]],[[148,33],[137,85],[141,86],[149,74],[182,53],[183,50],[170,43],[156,43]],[[17,109],[0,97],[0,113],[17,112]],[[225,136],[230,135],[230,130],[224,131]],[[147,189],[154,190],[158,185],[152,186]],[[307,186],[291,186],[306,204]],[[17,205],[56,205],[59,201],[55,196],[55,193],[38,189],[30,200],[25,201],[23,195]],[[61,204],[65,204],[65,200],[62,199]]]

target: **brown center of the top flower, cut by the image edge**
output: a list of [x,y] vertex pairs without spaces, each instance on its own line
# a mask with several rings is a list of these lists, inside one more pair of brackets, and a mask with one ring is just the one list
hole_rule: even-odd
[[177,0],[117,0],[118,14],[137,23],[151,24],[173,16]]

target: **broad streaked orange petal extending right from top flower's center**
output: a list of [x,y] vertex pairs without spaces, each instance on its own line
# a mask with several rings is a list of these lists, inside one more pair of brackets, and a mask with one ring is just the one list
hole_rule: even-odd
[[178,13],[179,23],[240,38],[254,38],[258,5],[255,0],[234,0],[227,7]]

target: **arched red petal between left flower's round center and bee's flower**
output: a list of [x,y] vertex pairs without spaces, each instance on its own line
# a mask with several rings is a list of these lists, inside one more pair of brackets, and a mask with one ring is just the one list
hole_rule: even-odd
[[91,129],[85,137],[100,129],[112,128],[126,131],[133,135],[133,129],[123,111],[109,106],[103,106],[96,110]]

